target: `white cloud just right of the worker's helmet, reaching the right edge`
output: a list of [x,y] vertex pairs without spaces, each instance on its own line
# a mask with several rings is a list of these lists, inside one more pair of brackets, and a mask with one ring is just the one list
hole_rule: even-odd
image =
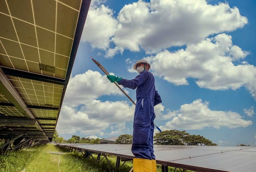
[[219,34],[197,44],[188,44],[186,49],[165,50],[147,59],[155,75],[175,85],[188,85],[187,78],[196,78],[201,88],[236,90],[245,86],[256,97],[256,67],[248,63],[234,65],[248,54],[232,44],[231,36]]

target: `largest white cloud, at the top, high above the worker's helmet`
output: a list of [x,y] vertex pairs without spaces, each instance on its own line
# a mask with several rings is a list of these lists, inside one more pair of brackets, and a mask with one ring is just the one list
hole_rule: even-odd
[[[125,5],[112,39],[117,47],[157,53],[172,46],[197,43],[209,35],[242,28],[248,23],[238,8],[206,0],[139,0]],[[234,49],[236,51],[236,49]]]

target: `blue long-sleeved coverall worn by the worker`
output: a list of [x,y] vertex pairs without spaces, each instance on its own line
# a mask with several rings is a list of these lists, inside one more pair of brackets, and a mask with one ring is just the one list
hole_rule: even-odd
[[132,80],[121,79],[119,85],[136,89],[136,107],[133,122],[132,153],[135,158],[156,159],[153,150],[154,106],[162,102],[155,88],[154,75],[144,70]]

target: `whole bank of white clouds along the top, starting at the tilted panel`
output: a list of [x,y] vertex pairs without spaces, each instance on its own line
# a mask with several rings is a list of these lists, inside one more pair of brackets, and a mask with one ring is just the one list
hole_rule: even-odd
[[[97,3],[96,3],[97,2]],[[106,57],[128,49],[157,53],[172,46],[197,43],[209,35],[231,32],[248,23],[238,8],[206,0],[139,0],[125,5],[118,16],[102,1],[92,2],[83,42],[106,51]],[[113,42],[116,47],[110,47]],[[232,52],[236,52],[236,47]]]

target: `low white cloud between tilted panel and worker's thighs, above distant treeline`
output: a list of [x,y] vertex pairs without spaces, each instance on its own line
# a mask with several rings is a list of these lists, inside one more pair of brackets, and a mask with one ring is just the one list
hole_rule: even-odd
[[[57,125],[60,134],[120,134],[128,130],[125,123],[133,120],[134,105],[120,101],[92,100],[80,108],[64,105],[60,113]],[[108,127],[111,128],[111,133],[105,132]]]

